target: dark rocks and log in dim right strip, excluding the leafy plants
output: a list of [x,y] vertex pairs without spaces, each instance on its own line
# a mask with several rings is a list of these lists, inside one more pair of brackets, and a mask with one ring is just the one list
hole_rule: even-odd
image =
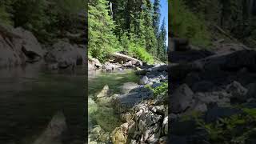
[[[198,128],[192,118],[194,112],[202,114],[199,118],[209,123],[242,114],[241,109],[234,107],[237,104],[256,108],[256,51],[232,51],[230,47],[226,50],[170,66],[171,143],[210,143],[207,130]],[[192,119],[182,121],[185,115]]]

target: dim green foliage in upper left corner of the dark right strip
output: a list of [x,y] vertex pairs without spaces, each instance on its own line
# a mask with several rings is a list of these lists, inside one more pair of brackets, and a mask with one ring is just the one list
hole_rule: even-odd
[[192,13],[183,0],[170,0],[169,5],[171,33],[181,38],[189,38],[194,45],[208,46],[210,33],[204,20]]

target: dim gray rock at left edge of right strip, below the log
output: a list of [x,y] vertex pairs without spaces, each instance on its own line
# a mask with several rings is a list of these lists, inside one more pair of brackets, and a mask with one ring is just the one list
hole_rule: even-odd
[[193,95],[193,91],[186,84],[183,84],[182,86],[179,86],[178,89],[174,90],[174,94],[171,94],[170,96],[170,106],[172,112],[181,113],[192,106],[191,102]]

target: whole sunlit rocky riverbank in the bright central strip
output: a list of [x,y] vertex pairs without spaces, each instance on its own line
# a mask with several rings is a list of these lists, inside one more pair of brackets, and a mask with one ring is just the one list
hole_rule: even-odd
[[89,134],[90,143],[166,143],[167,88],[162,93],[154,90],[167,81],[167,66],[140,66],[134,69],[141,78],[139,83],[124,83],[121,94],[112,95],[108,86],[104,86],[95,96],[95,102],[114,108],[122,125],[112,132],[107,132],[102,126],[94,126]]

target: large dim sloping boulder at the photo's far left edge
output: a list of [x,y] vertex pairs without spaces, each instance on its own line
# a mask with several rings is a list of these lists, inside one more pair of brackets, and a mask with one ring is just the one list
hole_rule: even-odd
[[18,66],[26,62],[38,62],[45,51],[37,38],[22,28],[0,24],[0,67]]

